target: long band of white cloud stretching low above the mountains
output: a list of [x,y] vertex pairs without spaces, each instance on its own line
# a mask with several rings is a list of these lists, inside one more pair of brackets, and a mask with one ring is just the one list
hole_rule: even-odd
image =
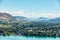
[[[6,11],[0,11],[0,12],[6,12]],[[29,17],[36,17],[36,18],[39,18],[39,17],[47,17],[47,18],[54,18],[54,17],[60,17],[60,14],[59,13],[25,13],[24,10],[20,10],[20,11],[14,11],[14,12],[8,12],[7,13],[13,15],[13,16],[25,16],[27,18]]]

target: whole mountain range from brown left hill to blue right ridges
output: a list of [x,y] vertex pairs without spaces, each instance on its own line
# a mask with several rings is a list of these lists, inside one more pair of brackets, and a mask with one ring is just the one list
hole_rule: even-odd
[[[8,13],[1,13],[0,12],[0,20],[4,21],[31,21],[31,18],[27,18],[24,16],[12,16]],[[45,17],[40,17],[40,18],[34,18],[32,21],[38,21],[38,22],[51,22],[51,23],[60,23],[60,17],[56,18],[45,18]]]

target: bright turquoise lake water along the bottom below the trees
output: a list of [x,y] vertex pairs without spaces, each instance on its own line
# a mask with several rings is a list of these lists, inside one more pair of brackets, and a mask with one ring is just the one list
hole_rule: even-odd
[[43,37],[43,36],[0,36],[0,40],[60,40],[60,37]]

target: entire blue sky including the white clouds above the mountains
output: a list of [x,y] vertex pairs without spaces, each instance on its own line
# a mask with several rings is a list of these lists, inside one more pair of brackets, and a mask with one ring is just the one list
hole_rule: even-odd
[[0,12],[25,17],[60,17],[60,0],[0,0]]

